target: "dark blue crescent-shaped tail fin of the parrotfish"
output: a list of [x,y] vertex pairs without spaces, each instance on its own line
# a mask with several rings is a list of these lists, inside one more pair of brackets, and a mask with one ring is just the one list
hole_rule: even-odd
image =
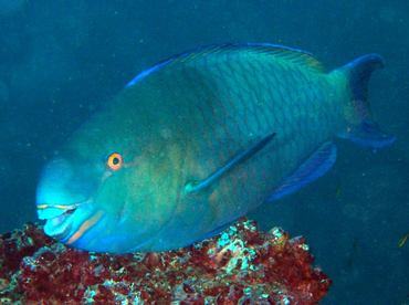
[[350,107],[354,114],[348,117],[349,125],[339,137],[373,149],[391,145],[396,138],[395,135],[386,134],[379,128],[367,101],[370,74],[379,67],[384,67],[384,60],[378,54],[361,56],[342,67],[349,80]]

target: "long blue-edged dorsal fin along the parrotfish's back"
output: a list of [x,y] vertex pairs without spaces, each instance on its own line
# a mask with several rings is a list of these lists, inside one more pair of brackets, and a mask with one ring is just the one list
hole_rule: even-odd
[[199,48],[191,50],[175,56],[171,56],[165,61],[159,62],[153,67],[143,71],[139,73],[132,82],[127,84],[130,86],[135,83],[143,81],[150,73],[159,70],[164,65],[177,63],[177,62],[187,62],[200,56],[208,56],[211,54],[228,54],[242,52],[248,54],[259,54],[264,56],[274,56],[275,59],[283,60],[289,63],[302,65],[311,69],[314,72],[323,73],[324,69],[321,62],[312,54],[305,51],[270,44],[270,43],[228,43],[228,44],[218,44]]

